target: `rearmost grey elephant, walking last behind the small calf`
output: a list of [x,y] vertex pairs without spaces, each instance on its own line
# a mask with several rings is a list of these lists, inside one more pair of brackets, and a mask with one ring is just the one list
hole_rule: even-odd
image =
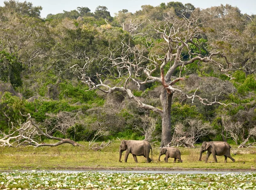
[[231,157],[230,155],[230,145],[227,142],[222,142],[222,141],[210,141],[206,142],[204,141],[200,150],[200,157],[199,161],[201,161],[202,158],[202,153],[208,150],[205,158],[205,162],[207,162],[209,155],[212,154],[214,161],[217,163],[217,158],[216,155],[224,155],[225,160],[224,162],[227,162],[227,157],[230,158],[233,162],[236,160]]

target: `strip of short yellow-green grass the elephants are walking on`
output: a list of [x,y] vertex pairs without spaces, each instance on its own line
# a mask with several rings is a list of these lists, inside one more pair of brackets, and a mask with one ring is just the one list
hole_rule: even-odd
[[[200,147],[189,149],[179,147],[183,163],[173,163],[158,160],[159,148],[153,147],[154,162],[146,163],[143,156],[137,156],[138,163],[135,163],[133,156],[128,156],[127,163],[119,162],[119,141],[114,141],[110,147],[96,152],[88,150],[88,142],[79,142],[84,147],[73,147],[70,144],[63,144],[58,147],[0,147],[0,170],[88,170],[88,169],[119,169],[119,170],[171,170],[171,169],[201,169],[201,170],[256,170],[256,148],[237,149],[233,146],[231,156],[236,159],[232,162],[227,158],[224,163],[224,156],[217,156],[218,163],[213,162],[212,155],[208,163],[198,161]],[[236,155],[233,155],[233,151]],[[151,156],[150,156],[151,157]],[[255,168],[255,169],[254,169]]]

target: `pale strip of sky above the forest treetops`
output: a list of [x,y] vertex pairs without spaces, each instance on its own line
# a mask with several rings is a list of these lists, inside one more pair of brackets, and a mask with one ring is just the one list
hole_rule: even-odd
[[[0,6],[8,0],[0,0]],[[256,14],[256,0],[26,0],[31,2],[33,6],[41,6],[41,17],[47,17],[47,14],[63,13],[64,11],[76,10],[77,7],[88,7],[94,12],[97,6],[106,6],[111,16],[122,9],[128,12],[136,12],[141,9],[142,5],[158,6],[160,3],[168,3],[170,1],[178,1],[183,4],[191,3],[196,8],[206,9],[212,6],[220,6],[221,4],[230,4],[240,9],[241,13]],[[24,0],[18,0],[24,2]]]

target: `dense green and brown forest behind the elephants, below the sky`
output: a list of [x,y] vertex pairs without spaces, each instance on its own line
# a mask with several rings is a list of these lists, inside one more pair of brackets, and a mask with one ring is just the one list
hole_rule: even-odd
[[0,7],[1,146],[47,135],[253,144],[255,15],[180,2],[114,17],[105,6],[44,19],[41,10],[15,0]]

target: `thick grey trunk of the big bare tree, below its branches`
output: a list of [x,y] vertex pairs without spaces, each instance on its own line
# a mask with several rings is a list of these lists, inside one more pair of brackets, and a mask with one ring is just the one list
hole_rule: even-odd
[[163,105],[162,113],[162,140],[161,147],[167,146],[172,141],[171,108],[172,93],[169,94],[163,87],[161,89],[161,102]]

